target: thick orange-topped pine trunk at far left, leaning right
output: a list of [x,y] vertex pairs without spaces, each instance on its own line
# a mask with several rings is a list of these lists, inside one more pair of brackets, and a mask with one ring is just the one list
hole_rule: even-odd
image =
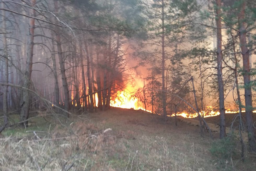
[[[31,6],[34,7],[36,4],[36,0],[31,0]],[[36,16],[36,11],[34,9],[30,10],[31,16]],[[29,89],[30,88],[30,78],[32,73],[32,61],[33,61],[33,47],[34,47],[34,26],[35,26],[35,19],[31,18],[30,22],[28,23],[28,42],[27,42],[27,61],[26,61],[26,68],[25,73],[23,76],[24,85],[23,87]],[[28,119],[30,107],[30,96],[27,90],[23,91],[23,102],[21,107],[21,114],[20,114],[20,121],[24,121]],[[27,121],[22,122],[22,125],[27,127]]]

